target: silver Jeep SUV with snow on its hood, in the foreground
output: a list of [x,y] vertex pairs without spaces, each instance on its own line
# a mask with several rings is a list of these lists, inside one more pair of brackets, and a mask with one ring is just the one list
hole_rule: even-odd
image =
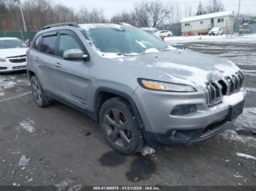
[[234,63],[176,50],[126,23],[45,26],[32,44],[37,105],[57,100],[86,112],[124,155],[209,139],[244,108],[244,75]]

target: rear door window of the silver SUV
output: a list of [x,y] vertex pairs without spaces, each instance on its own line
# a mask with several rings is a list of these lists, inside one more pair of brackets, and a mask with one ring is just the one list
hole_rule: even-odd
[[56,35],[42,37],[41,52],[45,52],[48,55],[55,55],[56,40]]

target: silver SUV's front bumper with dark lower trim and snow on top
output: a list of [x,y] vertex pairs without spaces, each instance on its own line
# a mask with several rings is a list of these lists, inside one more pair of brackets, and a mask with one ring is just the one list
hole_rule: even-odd
[[[163,144],[190,144],[204,141],[228,128],[233,119],[228,119],[230,106],[244,101],[245,91],[227,96],[225,101],[208,107],[206,92],[167,93],[145,90],[138,87],[133,98],[144,124],[144,135],[148,142]],[[175,106],[195,104],[197,112],[173,116]],[[244,105],[242,105],[244,106]]]

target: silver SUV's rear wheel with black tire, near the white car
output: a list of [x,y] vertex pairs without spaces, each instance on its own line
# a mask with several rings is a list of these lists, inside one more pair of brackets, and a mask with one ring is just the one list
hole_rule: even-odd
[[51,100],[45,95],[44,90],[42,90],[42,86],[40,85],[36,76],[31,77],[30,83],[34,101],[36,102],[37,106],[50,106]]

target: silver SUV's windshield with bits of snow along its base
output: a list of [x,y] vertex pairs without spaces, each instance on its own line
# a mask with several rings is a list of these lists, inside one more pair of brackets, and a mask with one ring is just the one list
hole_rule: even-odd
[[135,55],[169,48],[165,42],[138,28],[91,28],[85,36],[99,52],[117,55]]

